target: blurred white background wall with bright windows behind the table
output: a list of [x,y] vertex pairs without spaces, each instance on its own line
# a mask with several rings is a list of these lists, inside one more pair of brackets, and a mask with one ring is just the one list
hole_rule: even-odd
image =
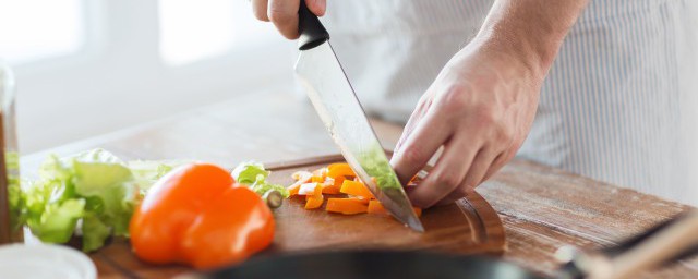
[[292,87],[292,46],[244,0],[0,0],[24,154]]

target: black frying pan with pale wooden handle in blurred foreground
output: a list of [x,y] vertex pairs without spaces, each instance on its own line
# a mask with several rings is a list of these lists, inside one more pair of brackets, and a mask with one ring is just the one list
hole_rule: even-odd
[[[567,250],[569,252],[569,250]],[[558,251],[559,252],[559,251]],[[698,213],[676,217],[621,245],[567,257],[555,278],[629,278],[698,252]],[[628,265],[629,264],[629,265]],[[613,267],[607,269],[605,267]],[[203,278],[545,278],[514,264],[484,256],[433,252],[353,251],[253,258]]]

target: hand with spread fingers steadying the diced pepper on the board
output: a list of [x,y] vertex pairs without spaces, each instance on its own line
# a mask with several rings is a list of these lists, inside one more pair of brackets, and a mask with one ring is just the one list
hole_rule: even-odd
[[454,56],[420,99],[392,159],[406,182],[443,146],[408,193],[412,203],[453,203],[509,161],[531,128],[541,83],[515,56],[477,41]]

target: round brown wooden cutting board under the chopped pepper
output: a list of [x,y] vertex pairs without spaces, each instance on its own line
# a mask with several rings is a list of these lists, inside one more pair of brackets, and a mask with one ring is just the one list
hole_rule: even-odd
[[[269,181],[290,185],[291,173],[314,170],[340,162],[340,155],[272,163]],[[477,193],[449,206],[422,213],[425,232],[419,233],[389,216],[329,214],[322,208],[305,210],[303,198],[284,201],[274,210],[274,243],[262,255],[326,250],[435,250],[459,254],[501,254],[505,248],[502,220]],[[144,263],[131,252],[128,240],[113,239],[89,257],[99,277],[171,278],[192,271],[181,265],[156,266]]]

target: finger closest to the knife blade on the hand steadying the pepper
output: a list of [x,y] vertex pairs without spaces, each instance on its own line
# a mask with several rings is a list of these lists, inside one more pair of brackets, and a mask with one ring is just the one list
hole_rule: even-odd
[[450,135],[450,128],[434,113],[428,113],[414,131],[405,140],[400,150],[393,156],[390,165],[400,182],[409,181],[424,168],[429,159]]

